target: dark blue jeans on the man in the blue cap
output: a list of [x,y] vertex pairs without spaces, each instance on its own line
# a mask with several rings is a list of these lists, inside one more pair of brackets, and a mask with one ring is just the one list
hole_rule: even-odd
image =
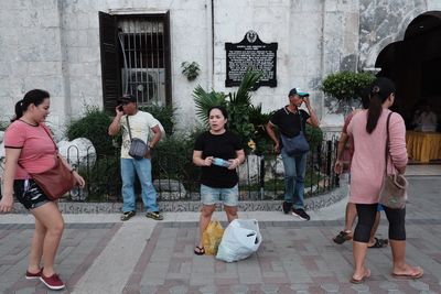
[[308,153],[290,156],[282,148],[281,154],[284,167],[284,200],[287,203],[292,203],[294,209],[303,209],[304,175],[306,172]]

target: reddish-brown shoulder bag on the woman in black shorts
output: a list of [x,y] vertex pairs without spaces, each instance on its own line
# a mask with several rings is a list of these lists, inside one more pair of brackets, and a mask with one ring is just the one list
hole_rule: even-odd
[[[72,171],[62,162],[58,154],[58,148],[55,144],[54,139],[51,137],[45,127],[44,131],[51,138],[55,145],[55,164],[50,170],[43,173],[29,173],[33,181],[39,185],[39,187],[44,192],[44,194],[51,200],[56,200],[67,192],[69,192],[76,184],[75,176]],[[20,164],[23,168],[23,166]]]

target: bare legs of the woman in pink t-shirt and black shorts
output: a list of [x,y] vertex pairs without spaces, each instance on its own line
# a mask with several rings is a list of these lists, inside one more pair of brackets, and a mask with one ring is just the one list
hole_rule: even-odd
[[55,203],[47,203],[32,209],[35,217],[35,232],[32,238],[28,270],[32,273],[40,271],[43,259],[44,275],[55,273],[54,262],[60,241],[63,236],[64,220]]

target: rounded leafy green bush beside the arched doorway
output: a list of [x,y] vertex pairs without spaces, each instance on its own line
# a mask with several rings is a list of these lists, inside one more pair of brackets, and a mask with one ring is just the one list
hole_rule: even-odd
[[[346,111],[356,100],[362,100],[362,92],[375,79],[370,73],[340,72],[330,74],[323,79],[321,90],[335,99]],[[345,111],[345,112],[346,112]]]

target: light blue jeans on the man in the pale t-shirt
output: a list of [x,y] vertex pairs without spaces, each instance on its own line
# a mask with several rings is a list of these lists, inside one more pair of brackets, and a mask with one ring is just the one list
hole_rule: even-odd
[[141,183],[141,197],[146,211],[159,211],[157,190],[153,187],[151,176],[151,161],[149,159],[121,159],[122,211],[128,213],[137,210],[133,187],[135,173],[138,174],[139,182]]

